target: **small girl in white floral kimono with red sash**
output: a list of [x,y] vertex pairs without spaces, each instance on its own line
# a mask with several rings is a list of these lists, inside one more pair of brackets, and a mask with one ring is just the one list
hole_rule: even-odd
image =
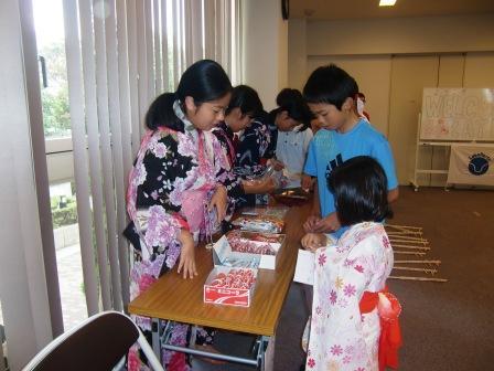
[[[309,233],[314,298],[305,370],[376,371],[397,367],[400,306],[386,288],[393,250],[380,222],[390,216],[386,176],[370,157],[352,158],[329,179],[337,218],[350,229],[336,245]],[[321,247],[325,246],[325,247]]]

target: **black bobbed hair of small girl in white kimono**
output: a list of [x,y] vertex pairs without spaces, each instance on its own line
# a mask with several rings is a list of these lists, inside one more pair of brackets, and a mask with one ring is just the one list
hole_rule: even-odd
[[382,222],[391,218],[387,178],[379,162],[357,156],[334,169],[327,180],[342,225]]

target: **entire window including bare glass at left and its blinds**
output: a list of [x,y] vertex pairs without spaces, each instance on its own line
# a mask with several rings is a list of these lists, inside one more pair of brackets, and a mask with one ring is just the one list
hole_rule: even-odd
[[239,83],[239,0],[33,0],[33,10],[67,328],[74,308],[84,318],[128,301],[125,188],[143,115],[196,60]]

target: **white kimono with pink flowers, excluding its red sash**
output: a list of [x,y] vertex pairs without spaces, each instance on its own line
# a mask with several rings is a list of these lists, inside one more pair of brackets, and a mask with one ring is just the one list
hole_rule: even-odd
[[351,226],[336,246],[319,248],[305,370],[377,371],[377,309],[361,315],[364,292],[384,288],[393,250],[379,223]]

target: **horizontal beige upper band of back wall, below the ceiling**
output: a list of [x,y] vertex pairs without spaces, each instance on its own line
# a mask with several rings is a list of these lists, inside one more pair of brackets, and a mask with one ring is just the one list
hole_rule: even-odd
[[314,21],[308,55],[482,52],[494,50],[494,13]]

